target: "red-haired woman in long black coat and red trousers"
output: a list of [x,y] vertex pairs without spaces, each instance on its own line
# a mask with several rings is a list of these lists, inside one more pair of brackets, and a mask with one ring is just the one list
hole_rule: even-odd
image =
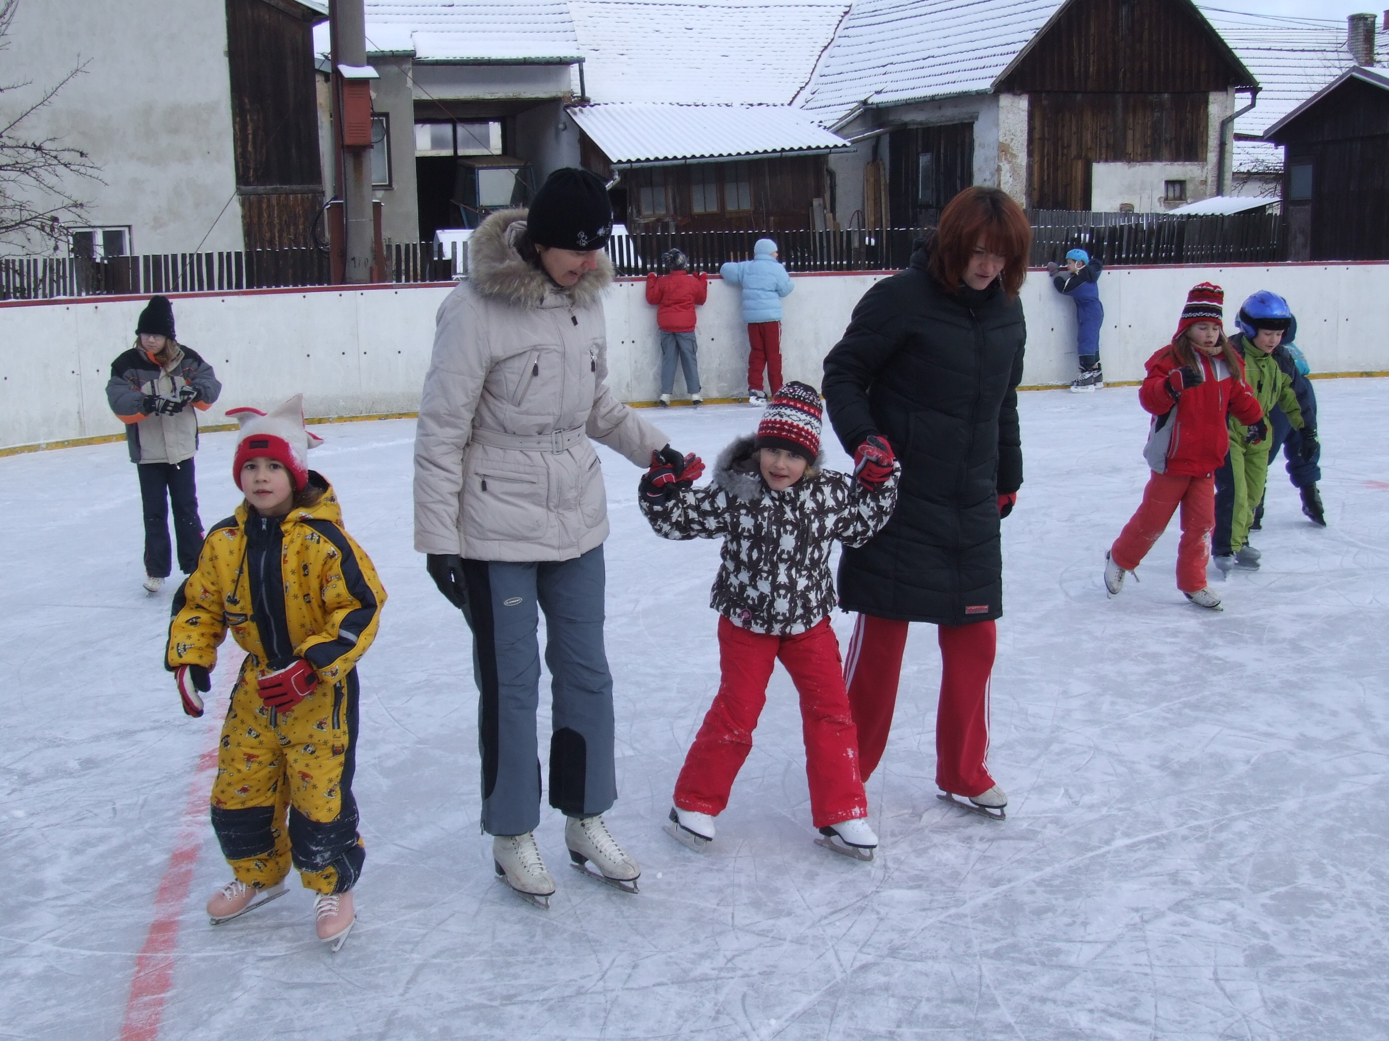
[[845,450],[870,475],[901,461],[897,509],[845,548],[839,602],[858,612],[846,679],[864,780],[882,758],[911,622],[939,626],[936,784],[1001,818],[985,763],[989,675],[1003,613],[1000,518],[1022,484],[1017,387],[1026,326],[1018,289],[1032,232],[999,189],[970,187],[911,265],[868,290],[825,358],[824,394]]

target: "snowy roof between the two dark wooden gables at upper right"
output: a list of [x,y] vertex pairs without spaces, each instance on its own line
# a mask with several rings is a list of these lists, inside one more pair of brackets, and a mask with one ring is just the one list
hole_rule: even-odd
[[[1200,7],[1231,50],[1254,74],[1258,104],[1235,121],[1236,135],[1263,136],[1275,122],[1354,65],[1346,49],[1345,18],[1293,18]],[[1379,36],[1376,60],[1389,61],[1389,40]],[[1235,169],[1274,172],[1283,168],[1282,149],[1236,140]]]

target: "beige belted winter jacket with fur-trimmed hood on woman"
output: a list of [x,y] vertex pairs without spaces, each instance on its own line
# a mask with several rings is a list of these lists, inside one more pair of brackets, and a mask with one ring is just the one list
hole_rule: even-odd
[[668,443],[613,397],[601,293],[568,290],[513,246],[525,211],[489,217],[469,276],[439,308],[415,433],[415,550],[476,561],[567,561],[608,533],[596,441],[639,466]]

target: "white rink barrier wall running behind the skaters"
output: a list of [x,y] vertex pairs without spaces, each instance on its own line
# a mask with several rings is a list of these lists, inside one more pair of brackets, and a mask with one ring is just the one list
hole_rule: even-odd
[[[785,301],[786,379],[821,382],[821,361],[854,304],[889,273],[793,276]],[[1225,287],[1226,326],[1258,289],[1288,297],[1297,343],[1315,373],[1389,371],[1389,264],[1147,266],[1100,278],[1100,355],[1108,382],[1135,382],[1143,361],[1168,341],[1186,290]],[[267,408],[297,391],[310,416],[414,412],[429,365],[433,319],[450,285],[250,290],[174,296],[179,340],[217,369],[222,397],[201,415],[225,423],[236,405]],[[735,286],[710,280],[699,312],[706,398],[747,393],[747,335]],[[1032,271],[1022,287],[1028,318],[1025,386],[1057,386],[1075,372],[1075,308]],[[122,433],[106,404],[111,361],[133,340],[144,298],[88,297],[0,304],[0,451]],[[607,297],[608,383],[624,401],[650,403],[658,387],[656,308],[642,279],[619,280]],[[685,397],[676,375],[676,398]]]

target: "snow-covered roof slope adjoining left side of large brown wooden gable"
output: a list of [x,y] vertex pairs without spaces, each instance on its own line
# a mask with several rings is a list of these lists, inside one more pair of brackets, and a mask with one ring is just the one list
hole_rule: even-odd
[[982,93],[1064,0],[856,0],[797,103],[825,125],[858,104]]

